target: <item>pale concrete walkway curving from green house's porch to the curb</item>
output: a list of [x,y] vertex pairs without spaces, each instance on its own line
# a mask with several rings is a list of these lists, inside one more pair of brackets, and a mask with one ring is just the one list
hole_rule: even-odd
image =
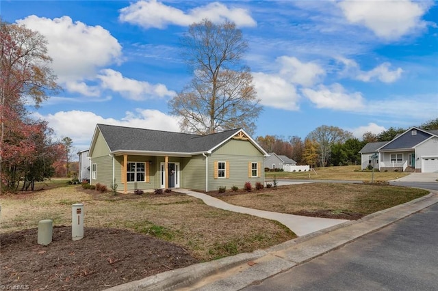
[[279,212],[270,212],[265,210],[257,210],[252,208],[246,208],[242,206],[235,206],[223,202],[220,199],[211,197],[204,193],[199,193],[195,191],[190,191],[187,189],[178,189],[178,192],[184,193],[198,199],[202,199],[203,202],[209,206],[220,208],[223,210],[229,210],[232,212],[239,212],[244,214],[254,215],[256,217],[262,217],[264,219],[271,219],[279,221],[281,224],[285,225],[292,230],[297,236],[304,236],[306,234],[311,234],[312,232],[318,232],[318,230],[324,230],[327,227],[333,225],[338,225],[344,223],[348,220],[344,219],[323,219],[317,217],[302,217],[294,214],[285,214]]

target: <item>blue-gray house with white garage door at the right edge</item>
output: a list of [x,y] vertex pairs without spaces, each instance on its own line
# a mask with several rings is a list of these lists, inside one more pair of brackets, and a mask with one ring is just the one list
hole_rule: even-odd
[[412,127],[391,141],[367,143],[360,151],[361,167],[380,171],[438,172],[438,130]]

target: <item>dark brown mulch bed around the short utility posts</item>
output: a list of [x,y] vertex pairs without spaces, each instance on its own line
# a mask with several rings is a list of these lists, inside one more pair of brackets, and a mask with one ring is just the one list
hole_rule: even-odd
[[190,266],[198,260],[182,247],[128,230],[53,227],[52,243],[38,245],[38,229],[0,234],[0,282],[26,290],[103,290]]

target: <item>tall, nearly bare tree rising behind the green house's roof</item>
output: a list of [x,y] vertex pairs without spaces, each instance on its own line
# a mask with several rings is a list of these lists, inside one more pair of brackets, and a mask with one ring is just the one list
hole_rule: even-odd
[[203,20],[181,39],[192,81],[169,102],[181,130],[209,134],[244,128],[253,134],[262,108],[250,69],[242,61],[248,44],[234,23]]

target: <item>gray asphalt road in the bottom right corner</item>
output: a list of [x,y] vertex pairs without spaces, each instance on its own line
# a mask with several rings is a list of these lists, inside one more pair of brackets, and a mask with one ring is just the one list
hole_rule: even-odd
[[438,290],[438,204],[243,290]]

